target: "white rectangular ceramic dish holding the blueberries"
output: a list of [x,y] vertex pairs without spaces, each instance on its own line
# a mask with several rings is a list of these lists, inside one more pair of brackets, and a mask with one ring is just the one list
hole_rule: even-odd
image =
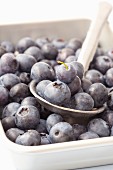
[[[90,21],[76,19],[49,23],[0,26],[0,40],[17,42],[21,37],[77,37],[83,39]],[[106,23],[100,43],[105,50],[113,47],[113,33]],[[5,136],[0,122],[0,140],[9,149],[17,170],[69,170],[113,163],[113,137],[65,142],[44,146],[17,145]]]

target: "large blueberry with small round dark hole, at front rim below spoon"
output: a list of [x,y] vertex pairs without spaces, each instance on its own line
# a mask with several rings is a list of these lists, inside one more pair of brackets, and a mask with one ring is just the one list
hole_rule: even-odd
[[52,143],[72,141],[74,137],[73,128],[67,122],[59,122],[51,128],[49,137]]

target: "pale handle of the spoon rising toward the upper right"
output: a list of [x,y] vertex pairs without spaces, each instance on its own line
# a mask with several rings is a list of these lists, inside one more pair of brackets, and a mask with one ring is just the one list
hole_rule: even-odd
[[80,55],[78,57],[78,62],[80,62],[84,66],[84,72],[88,70],[89,64],[94,57],[96,48],[98,46],[101,30],[111,11],[111,4],[109,4],[108,2],[100,2],[97,14],[91,22],[89,31],[87,33],[86,39],[84,40]]

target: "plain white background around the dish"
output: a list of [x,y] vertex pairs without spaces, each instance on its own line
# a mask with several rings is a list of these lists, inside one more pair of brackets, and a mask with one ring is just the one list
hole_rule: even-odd
[[[113,4],[113,0],[108,1]],[[93,18],[98,2],[99,0],[0,0],[0,25],[76,17]],[[109,22],[113,28],[113,12],[109,17]],[[3,170],[16,170],[10,154],[2,144],[0,144],[0,167]],[[90,169],[111,170],[113,166]]]

